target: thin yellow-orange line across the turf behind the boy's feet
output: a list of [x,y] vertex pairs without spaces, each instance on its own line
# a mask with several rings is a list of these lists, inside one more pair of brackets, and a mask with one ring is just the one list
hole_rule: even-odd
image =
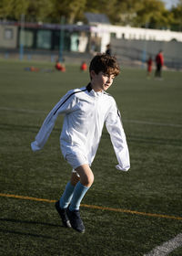
[[[24,200],[46,202],[46,203],[55,203],[56,202],[56,200],[50,200],[50,199],[45,199],[45,198],[25,197],[25,196],[18,196],[18,195],[3,194],[3,193],[0,193],[0,197],[11,197],[11,198],[18,198],[18,199],[24,199]],[[154,218],[182,220],[182,217],[169,216],[169,215],[156,214],[156,213],[140,212],[140,211],[136,211],[136,210],[122,209],[122,208],[106,208],[106,207],[99,207],[99,206],[86,205],[86,204],[81,204],[81,207],[115,211],[115,212],[121,212],[121,213],[129,213],[129,214],[135,214],[135,215],[143,215],[143,216],[154,217]]]

